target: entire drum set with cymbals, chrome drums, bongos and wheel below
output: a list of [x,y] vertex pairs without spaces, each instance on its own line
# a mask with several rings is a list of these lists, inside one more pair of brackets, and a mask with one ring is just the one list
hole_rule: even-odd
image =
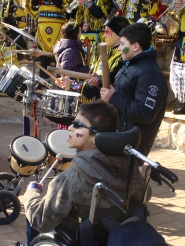
[[[35,42],[35,38],[30,34],[9,24],[3,22],[2,24]],[[10,41],[15,43],[13,40]],[[33,71],[31,72],[26,67],[3,65],[0,71],[0,91],[23,103],[25,106],[23,112],[27,112],[33,105],[36,105],[38,110],[36,111],[36,118],[37,115],[41,115],[41,118],[42,116],[51,116],[61,119],[69,118],[72,121],[78,111],[80,94],[52,90],[52,85],[35,73],[35,58],[42,55],[53,55],[53,53],[37,48],[13,50],[13,52],[31,55]],[[2,174],[0,175],[0,225],[9,224],[19,216],[21,205],[17,196],[27,177],[34,175],[35,179],[39,181],[39,175],[43,173],[44,168],[53,166],[52,163],[57,153],[60,153],[63,159],[53,168],[55,175],[58,171],[64,171],[70,166],[72,158],[76,155],[76,150],[68,148],[65,140],[67,136],[66,130],[54,130],[47,134],[44,142],[37,137],[37,134],[34,134],[33,137],[24,134],[12,140],[7,160],[15,176],[10,174],[8,177],[2,177]],[[6,180],[6,184],[3,185],[1,180]]]

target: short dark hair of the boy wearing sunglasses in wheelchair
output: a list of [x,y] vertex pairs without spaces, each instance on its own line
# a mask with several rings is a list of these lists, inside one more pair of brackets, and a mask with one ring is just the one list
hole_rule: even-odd
[[[91,128],[98,132],[117,131],[117,110],[110,103],[99,99],[90,103],[82,104],[78,111],[90,123]],[[89,131],[90,135],[94,133]]]

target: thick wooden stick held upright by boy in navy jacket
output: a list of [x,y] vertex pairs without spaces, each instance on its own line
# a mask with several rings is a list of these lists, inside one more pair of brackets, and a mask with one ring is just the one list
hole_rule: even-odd
[[110,76],[107,57],[107,43],[101,42],[100,46],[100,59],[102,63],[102,84],[103,87],[110,89]]

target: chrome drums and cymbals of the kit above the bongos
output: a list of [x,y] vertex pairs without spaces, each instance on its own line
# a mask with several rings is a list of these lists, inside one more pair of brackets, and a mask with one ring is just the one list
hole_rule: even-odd
[[[6,93],[16,101],[22,102],[27,110],[30,109],[30,104],[37,100],[39,102],[39,110],[42,110],[44,116],[73,119],[77,113],[80,94],[63,90],[51,90],[52,85],[35,73],[36,65],[38,65],[36,64],[36,57],[50,56],[54,55],[54,53],[37,49],[36,43],[39,42],[26,31],[4,22],[1,23],[32,40],[34,48],[29,50],[12,50],[12,53],[31,55],[33,59],[33,71],[30,71],[24,66],[21,68],[15,65],[8,67],[7,64],[4,64],[0,70],[0,91]],[[6,36],[6,34],[4,35]],[[16,43],[15,40],[11,41],[12,43]]]

